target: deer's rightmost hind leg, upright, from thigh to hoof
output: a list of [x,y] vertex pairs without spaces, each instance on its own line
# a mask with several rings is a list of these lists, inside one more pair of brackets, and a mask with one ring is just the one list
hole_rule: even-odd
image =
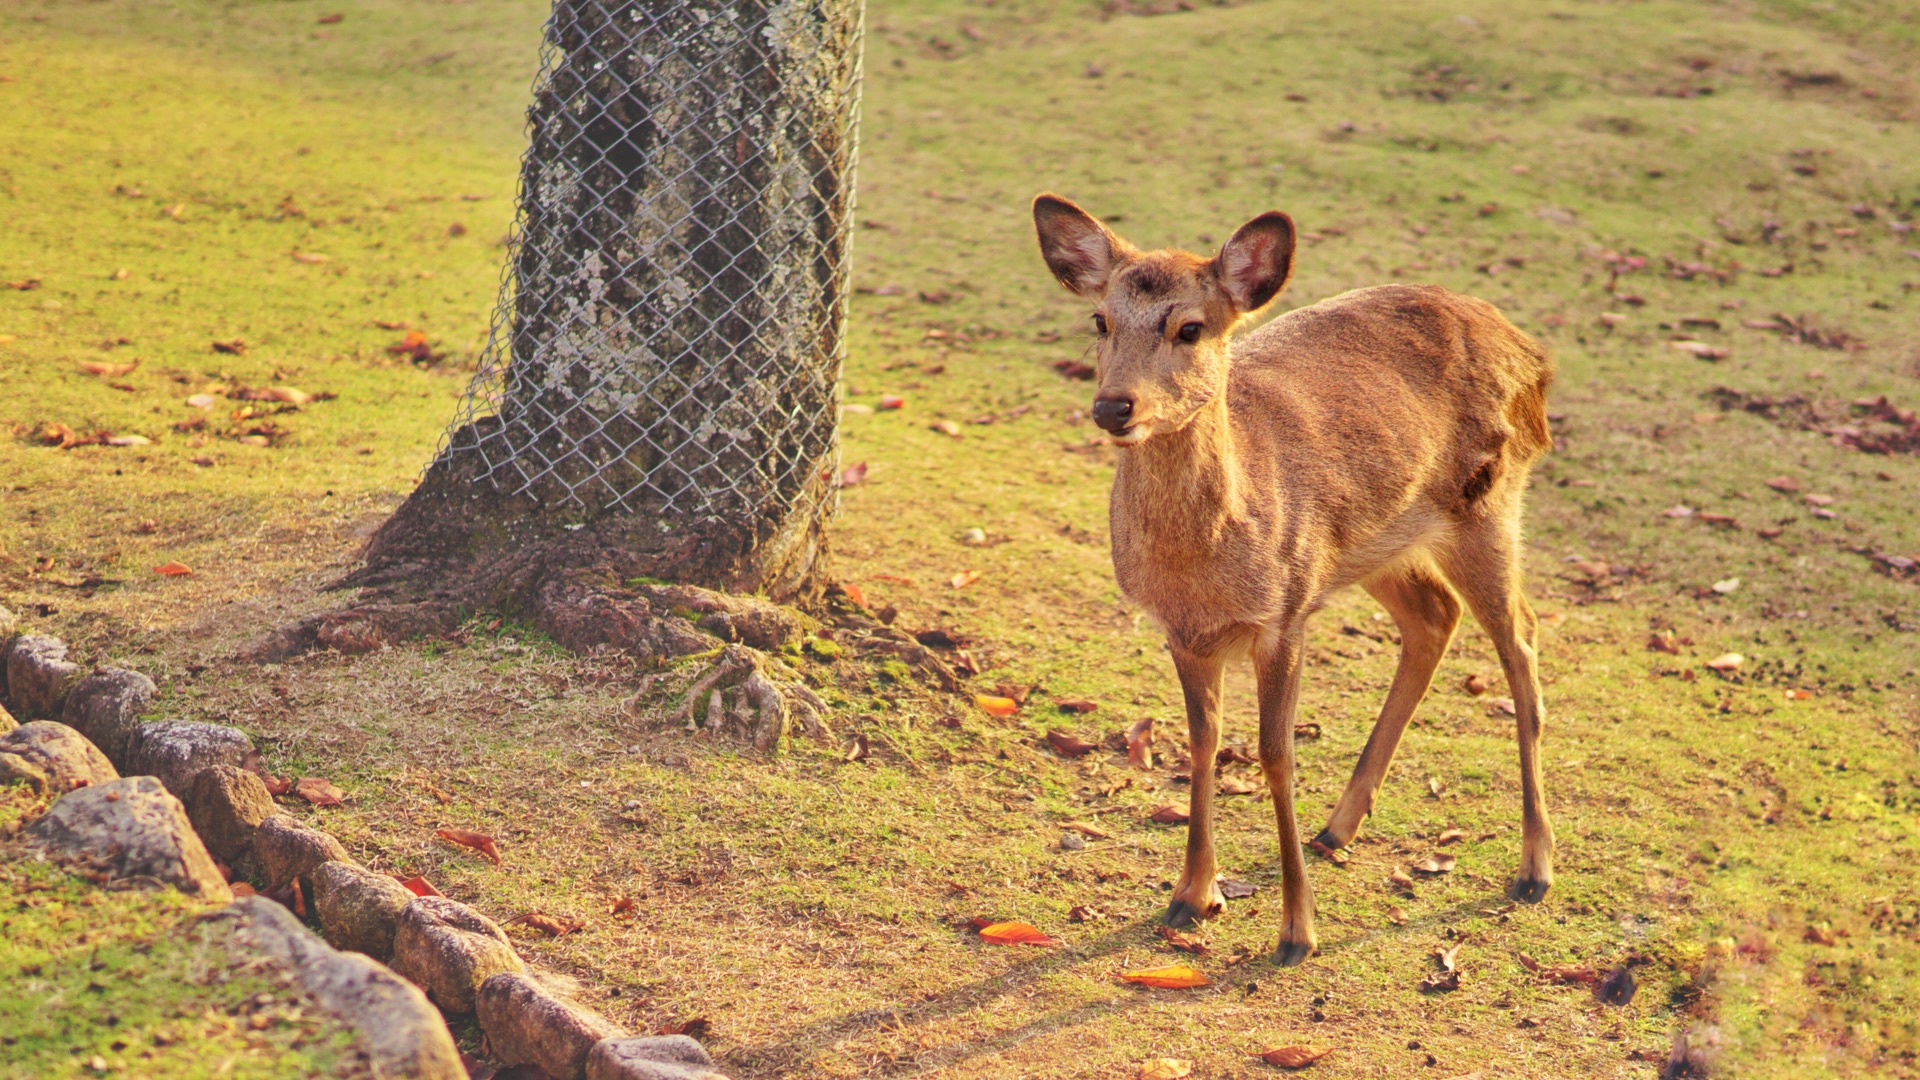
[[[1519,496],[1511,496],[1515,502]],[[1553,884],[1553,826],[1548,822],[1540,782],[1540,730],[1546,709],[1540,703],[1536,657],[1538,621],[1521,590],[1519,507],[1511,513],[1469,519],[1440,555],[1440,569],[1459,590],[1473,617],[1494,640],[1500,665],[1513,694],[1515,734],[1521,744],[1521,871],[1509,894],[1534,903]]]

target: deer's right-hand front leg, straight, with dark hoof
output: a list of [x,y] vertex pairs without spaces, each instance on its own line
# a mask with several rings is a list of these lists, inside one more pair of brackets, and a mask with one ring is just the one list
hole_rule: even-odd
[[1281,826],[1281,944],[1273,963],[1294,967],[1313,955],[1313,886],[1294,821],[1294,711],[1300,705],[1300,640],[1288,634],[1254,651],[1260,680],[1260,771],[1267,774]]

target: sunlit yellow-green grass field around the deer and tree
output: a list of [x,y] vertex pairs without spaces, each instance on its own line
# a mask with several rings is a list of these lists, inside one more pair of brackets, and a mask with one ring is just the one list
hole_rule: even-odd
[[[845,492],[835,567],[902,625],[972,638],[983,688],[1037,684],[1020,715],[808,661],[835,728],[874,753],[762,759],[622,713],[630,665],[511,623],[227,659],[338,601],[319,586],[405,496],[465,388],[543,17],[522,0],[0,2],[0,281],[35,282],[0,290],[0,603],[152,673],[167,715],[240,724],[276,771],[338,782],[346,807],[294,813],[365,863],[497,919],[586,922],[515,932],[636,1030],[705,1019],[743,1078],[1131,1078],[1160,1057],[1261,1076],[1277,1070],[1252,1053],[1281,1043],[1331,1047],[1308,1070],[1329,1078],[1653,1076],[1674,1032],[1713,1047],[1715,1076],[1920,1074],[1920,582],[1872,557],[1920,555],[1920,465],[1807,430],[1803,409],[1740,405],[1797,394],[1818,427],[1868,434],[1851,402],[1920,405],[1920,15],[1146,12],[868,10],[847,400],[908,407],[845,417],[870,479]],[[1308,242],[1283,306],[1430,281],[1555,352],[1528,550],[1559,834],[1542,905],[1501,896],[1511,717],[1465,626],[1352,859],[1311,863],[1321,955],[1265,963],[1279,886],[1252,798],[1223,801],[1221,865],[1260,892],[1204,930],[1202,957],[1156,936],[1183,836],[1148,815],[1185,788],[1043,738],[1154,717],[1164,748],[1181,742],[1160,638],[1112,582],[1091,384],[1052,369],[1085,352],[1087,311],[1033,246],[1044,188],[1142,246],[1208,250],[1286,209]],[[442,359],[388,352],[407,331]],[[236,400],[261,386],[332,398]],[[60,450],[46,425],[150,442]],[[194,575],[154,575],[165,561]],[[1738,671],[1707,667],[1730,651]],[[1394,653],[1365,596],[1317,621],[1308,828]],[[1467,694],[1473,675],[1494,690]],[[1227,738],[1246,742],[1244,673],[1229,694]],[[1069,698],[1100,709],[1062,715]],[[1064,849],[1068,822],[1110,836]],[[505,865],[438,844],[445,826],[499,836]],[[1457,869],[1404,896],[1388,874],[1446,830],[1467,834],[1446,847]],[[636,909],[611,915],[618,897]],[[1064,945],[987,947],[972,917]],[[1453,944],[1459,990],[1421,992]],[[1632,961],[1640,990],[1603,1005],[1523,955]],[[1212,986],[1116,978],[1177,959]],[[0,1017],[33,994],[6,986]],[[73,1068],[157,1068],[109,1047],[75,1043]]]

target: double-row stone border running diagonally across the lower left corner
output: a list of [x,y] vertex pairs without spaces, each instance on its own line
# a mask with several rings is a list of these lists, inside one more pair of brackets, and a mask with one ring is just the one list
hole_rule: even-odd
[[[27,826],[29,842],[88,863],[96,880],[230,899],[202,919],[230,922],[238,942],[286,965],[353,1030],[380,1076],[465,1080],[442,1013],[476,1013],[503,1067],[532,1065],[551,1080],[726,1080],[697,1042],[634,1038],[570,1001],[486,915],[417,897],[359,867],[324,830],[278,813],[246,732],[142,721],[154,694],[136,671],[83,675],[65,642],[17,632],[0,607],[0,782],[38,776],[42,790],[67,788],[50,792],[58,798]],[[311,897],[321,936],[265,896],[232,899],[228,876],[257,876],[292,903]]]

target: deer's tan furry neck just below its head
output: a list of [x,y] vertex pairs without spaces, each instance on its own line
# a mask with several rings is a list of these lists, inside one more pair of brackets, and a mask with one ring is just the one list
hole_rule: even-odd
[[1246,517],[1225,386],[1181,430],[1127,450],[1114,486],[1154,548],[1204,548],[1229,521]]

